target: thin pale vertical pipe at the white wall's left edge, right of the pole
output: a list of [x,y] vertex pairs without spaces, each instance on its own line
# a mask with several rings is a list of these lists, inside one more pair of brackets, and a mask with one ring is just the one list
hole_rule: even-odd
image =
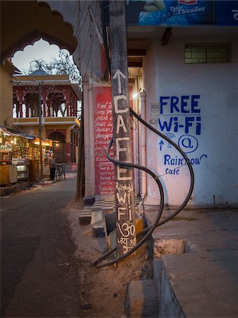
[[[140,93],[141,98],[141,118],[146,121],[146,93]],[[141,152],[140,162],[143,167],[146,167],[146,127],[143,124],[141,126]],[[147,176],[146,172],[141,170],[141,198],[147,194]]]

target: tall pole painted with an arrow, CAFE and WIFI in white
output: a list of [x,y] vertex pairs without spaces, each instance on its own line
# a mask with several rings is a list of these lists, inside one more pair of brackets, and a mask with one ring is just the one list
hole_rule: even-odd
[[[131,129],[128,89],[125,1],[109,1],[114,158],[131,162]],[[117,252],[136,245],[133,170],[115,165]]]

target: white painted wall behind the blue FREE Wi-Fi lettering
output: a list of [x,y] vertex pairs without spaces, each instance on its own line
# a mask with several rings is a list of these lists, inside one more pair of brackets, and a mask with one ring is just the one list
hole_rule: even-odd
[[[196,134],[195,127],[189,131],[191,146],[197,148],[188,153],[191,161],[201,158],[199,165],[194,164],[195,186],[189,204],[213,205],[238,204],[238,168],[237,168],[237,126],[238,126],[238,30],[234,28],[176,28],[172,29],[169,44],[162,46],[158,39],[148,48],[145,59],[145,89],[147,96],[147,120],[150,119],[150,103],[160,101],[161,96],[200,95],[196,110],[201,110],[201,134]],[[194,43],[231,43],[232,62],[225,64],[184,64],[184,45]],[[168,108],[164,106],[165,110]],[[191,109],[186,107],[187,110]],[[167,112],[169,114],[169,110]],[[178,115],[179,124],[184,124],[181,112],[165,116],[164,122]],[[188,114],[193,115],[193,114]],[[196,121],[196,117],[195,117]],[[157,126],[158,128],[158,126]],[[166,130],[163,131],[167,132]],[[173,141],[184,139],[189,146],[189,139],[184,127],[174,134]],[[184,137],[182,137],[184,136]],[[195,137],[195,138],[194,138]],[[180,143],[182,141],[180,139]],[[147,129],[147,164],[149,168],[163,175],[160,180],[165,186],[165,202],[180,205],[189,189],[189,170],[179,168],[179,175],[165,175],[166,170],[177,165],[168,165],[170,158],[181,156],[173,148],[167,148],[167,141],[160,143],[160,137]],[[159,144],[160,143],[160,144]],[[161,151],[160,151],[161,147]],[[191,151],[194,148],[186,148]],[[201,157],[202,156],[202,157]],[[169,158],[169,157],[166,157]],[[197,159],[198,160],[198,159]],[[177,170],[175,170],[177,171]],[[176,172],[175,172],[176,173]],[[159,193],[154,180],[148,177],[147,204],[158,204]]]

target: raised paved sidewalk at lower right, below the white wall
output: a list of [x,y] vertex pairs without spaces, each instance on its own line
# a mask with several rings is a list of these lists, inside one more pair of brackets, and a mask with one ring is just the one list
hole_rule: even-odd
[[153,240],[160,317],[238,317],[237,209],[182,211]]

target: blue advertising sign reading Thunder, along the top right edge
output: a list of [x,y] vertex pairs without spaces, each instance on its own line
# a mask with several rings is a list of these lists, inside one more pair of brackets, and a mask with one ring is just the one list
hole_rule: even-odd
[[126,13],[128,25],[238,26],[238,1],[233,0],[130,0]]

